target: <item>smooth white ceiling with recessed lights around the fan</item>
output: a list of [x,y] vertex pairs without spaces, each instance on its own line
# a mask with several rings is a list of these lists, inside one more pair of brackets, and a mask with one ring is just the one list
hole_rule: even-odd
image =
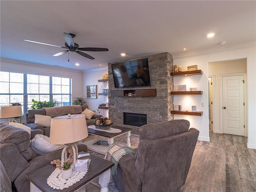
[[[256,41],[256,1],[0,1],[1,57],[77,70],[106,67],[108,62],[169,52],[195,52]],[[63,32],[76,34],[90,60],[64,48]],[[214,38],[206,38],[215,32]],[[187,50],[183,50],[186,48]],[[120,56],[126,52],[125,58]],[[80,66],[75,66],[75,63]],[[101,66],[100,66],[101,65]]]

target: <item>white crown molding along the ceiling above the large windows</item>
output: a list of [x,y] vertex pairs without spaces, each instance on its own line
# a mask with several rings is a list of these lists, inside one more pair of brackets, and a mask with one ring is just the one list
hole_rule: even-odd
[[[22,65],[27,65],[29,66],[36,66],[36,67],[40,67],[40,68],[47,68],[49,70],[64,70],[64,71],[69,71],[69,72],[76,72],[76,73],[82,73],[81,70],[75,70],[75,69],[69,69],[69,68],[64,68],[64,67],[60,67],[60,66],[50,66],[50,65],[45,65],[45,64],[38,64],[38,63],[32,63],[32,62],[26,62],[26,61],[20,61],[20,60],[14,60],[14,59],[8,59],[8,58],[0,58],[0,62],[1,63],[11,63],[11,64],[22,64]],[[2,68],[2,66],[1,66]],[[4,67],[4,69],[12,69],[12,68],[8,68],[8,67]],[[24,69],[19,69],[19,71],[23,71],[26,72],[27,70]]]

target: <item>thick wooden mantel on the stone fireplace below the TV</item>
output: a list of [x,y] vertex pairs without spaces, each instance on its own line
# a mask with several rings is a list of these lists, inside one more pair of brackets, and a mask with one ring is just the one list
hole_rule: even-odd
[[[132,96],[128,96],[129,93],[133,94]],[[134,97],[134,96],[142,96],[142,97],[155,97],[156,89],[136,89],[136,90],[111,90],[111,96],[119,96],[119,97]]]

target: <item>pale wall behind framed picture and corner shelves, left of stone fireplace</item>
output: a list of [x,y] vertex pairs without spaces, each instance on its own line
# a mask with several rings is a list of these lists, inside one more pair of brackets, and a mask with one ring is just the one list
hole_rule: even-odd
[[[108,83],[98,82],[98,80],[102,79],[102,75],[108,73],[108,68],[103,70],[92,70],[92,71],[84,71],[83,72],[83,97],[86,98],[86,86],[87,85],[97,85],[97,99],[86,98],[86,103],[89,106],[90,110],[98,109],[99,104],[108,102],[108,96],[98,95],[98,93],[102,93],[102,89],[108,89]],[[108,110],[99,109],[99,114],[108,117]]]

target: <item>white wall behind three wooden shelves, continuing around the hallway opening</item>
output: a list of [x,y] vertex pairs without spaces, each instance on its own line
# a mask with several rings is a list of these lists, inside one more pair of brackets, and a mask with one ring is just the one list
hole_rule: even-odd
[[[241,44],[230,47],[223,47],[220,49],[205,50],[203,52],[194,52],[189,54],[182,54],[173,56],[174,65],[182,66],[185,70],[187,66],[198,65],[198,69],[203,71],[201,77],[194,76],[189,77],[189,84],[197,86],[203,91],[203,95],[199,97],[192,97],[193,104],[197,106],[201,102],[204,102],[204,107],[199,107],[197,110],[203,111],[203,116],[184,116],[174,115],[174,119],[185,118],[190,120],[190,127],[194,127],[200,131],[200,140],[209,140],[209,128],[208,128],[208,63],[218,62],[225,60],[237,60],[246,58],[247,61],[247,125],[248,125],[248,148],[256,149],[256,46],[255,42],[248,44]],[[186,77],[187,78],[187,77]],[[185,78],[177,79],[175,84],[183,83]],[[191,81],[190,81],[191,80]],[[185,103],[184,98],[182,101],[180,98],[174,100],[174,106]],[[181,104],[183,104],[181,103]],[[192,105],[192,104],[191,104]]]

